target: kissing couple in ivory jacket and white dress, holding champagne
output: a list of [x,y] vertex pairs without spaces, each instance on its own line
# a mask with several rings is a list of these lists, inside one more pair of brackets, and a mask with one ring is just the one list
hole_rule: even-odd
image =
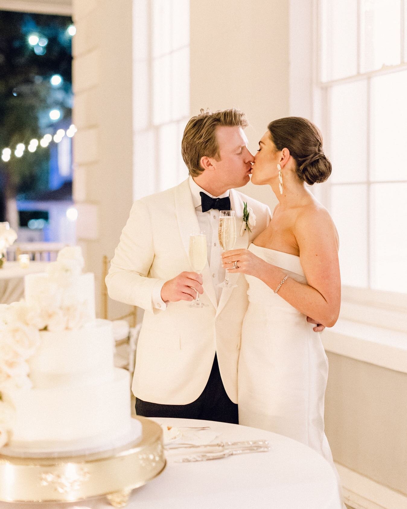
[[[255,156],[247,125],[237,109],[192,117],[182,139],[189,177],[136,201],[115,249],[109,296],[145,310],[132,384],[136,413],[269,430],[333,466],[319,331],[339,315],[339,242],[308,189],[327,180],[331,163],[307,119],[270,122]],[[273,214],[234,189],[250,176],[271,186]],[[236,217],[236,244],[224,252],[220,210]],[[206,235],[202,274],[188,258],[193,232]],[[230,287],[221,288],[225,269]],[[196,294],[201,308],[190,306]]]

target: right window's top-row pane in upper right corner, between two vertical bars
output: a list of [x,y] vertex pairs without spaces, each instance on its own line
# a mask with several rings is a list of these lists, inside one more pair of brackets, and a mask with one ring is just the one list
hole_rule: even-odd
[[400,63],[400,0],[361,0],[361,71]]

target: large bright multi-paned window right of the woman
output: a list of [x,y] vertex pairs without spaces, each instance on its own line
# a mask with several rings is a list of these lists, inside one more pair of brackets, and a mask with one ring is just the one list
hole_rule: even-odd
[[317,19],[342,282],[407,293],[407,0],[319,0]]

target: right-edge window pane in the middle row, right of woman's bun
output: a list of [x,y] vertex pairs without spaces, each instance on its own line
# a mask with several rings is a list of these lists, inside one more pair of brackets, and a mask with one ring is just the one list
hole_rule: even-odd
[[371,180],[405,180],[407,71],[371,81]]

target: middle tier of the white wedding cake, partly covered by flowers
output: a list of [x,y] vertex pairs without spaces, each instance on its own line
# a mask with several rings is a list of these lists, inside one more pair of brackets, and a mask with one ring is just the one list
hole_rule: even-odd
[[77,330],[41,331],[41,341],[28,360],[35,388],[70,386],[96,378],[111,378],[113,335],[111,322],[94,320]]

